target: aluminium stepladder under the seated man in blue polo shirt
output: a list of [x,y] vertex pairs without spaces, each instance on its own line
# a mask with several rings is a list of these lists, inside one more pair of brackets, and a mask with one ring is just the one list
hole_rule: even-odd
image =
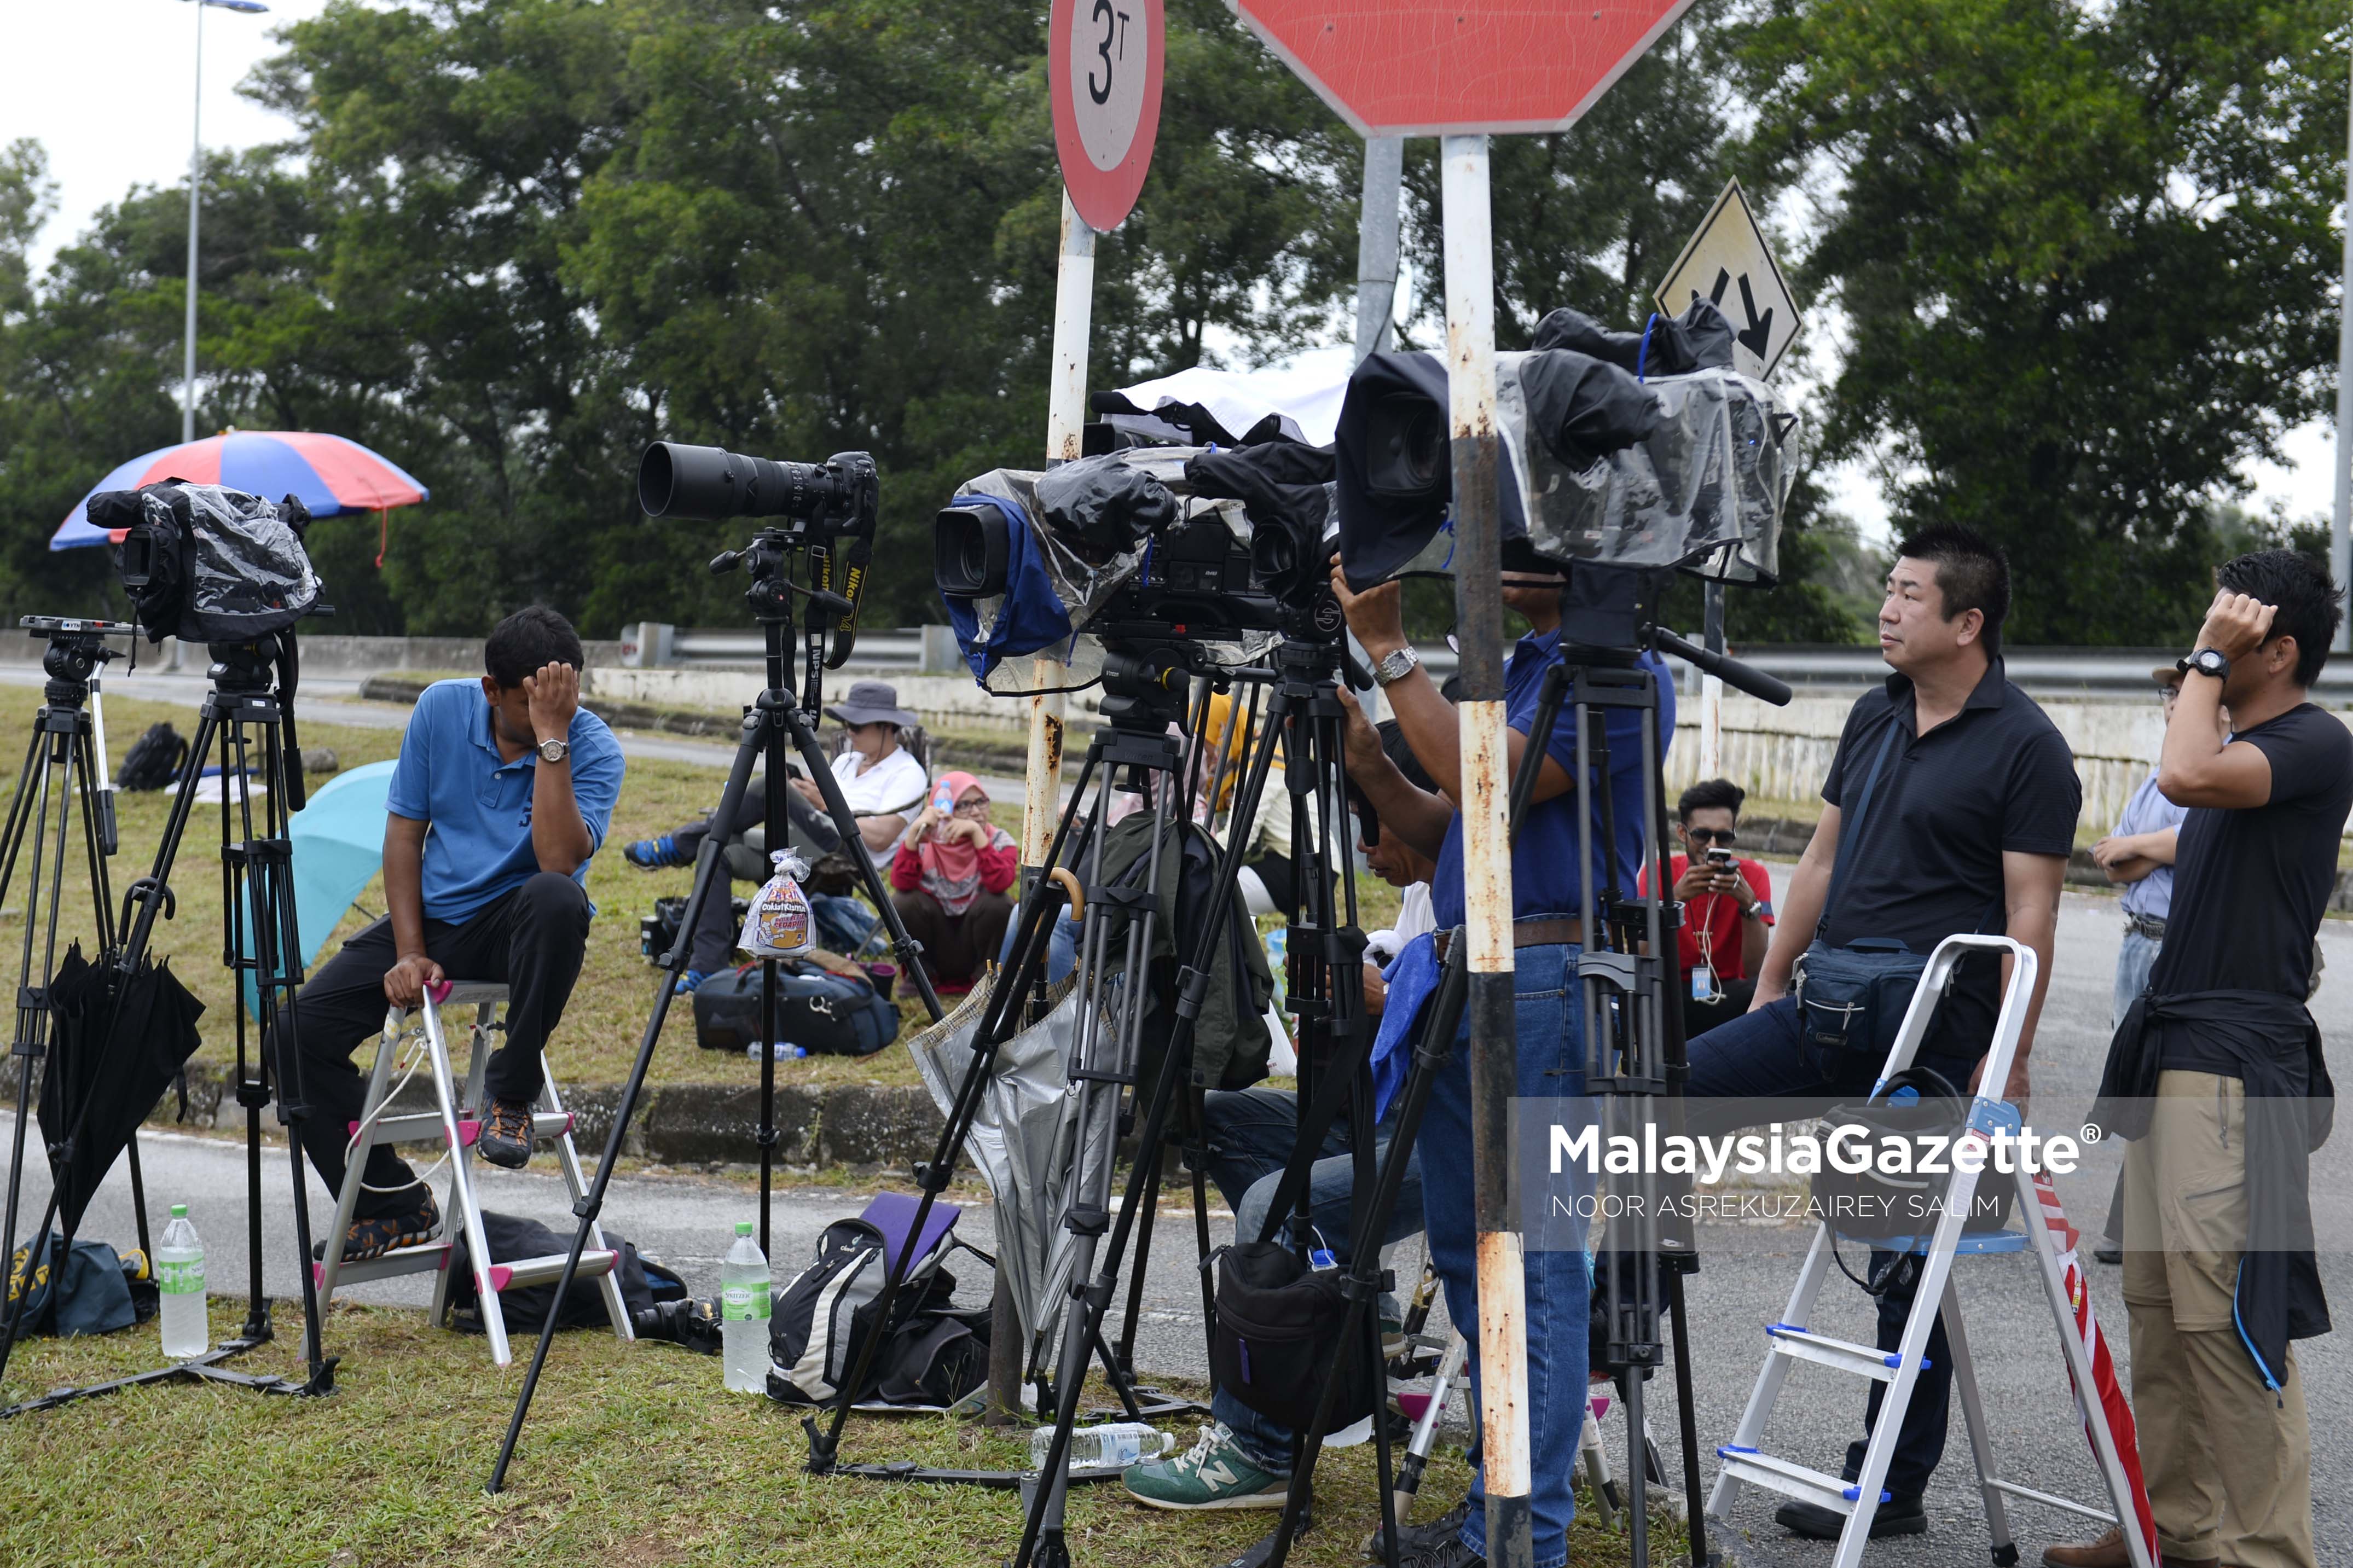
[[[489,1070],[489,1037],[492,1032],[506,1030],[506,1023],[496,1016],[504,1004],[504,985],[485,980],[445,980],[426,992],[416,1025],[409,1023],[409,1016],[402,1009],[391,1009],[384,1016],[384,1039],[376,1046],[376,1067],[367,1079],[367,1098],[362,1100],[360,1119],[351,1124],[351,1147],[344,1152],[344,1190],[334,1204],[334,1229],[327,1232],[327,1255],[322,1262],[311,1265],[311,1272],[318,1279],[320,1316],[327,1314],[327,1305],[334,1300],[336,1286],[360,1284],[367,1279],[393,1279],[400,1274],[424,1274],[431,1269],[440,1274],[433,1284],[433,1324],[447,1324],[452,1286],[449,1262],[456,1253],[456,1237],[464,1237],[466,1262],[473,1269],[475,1300],[482,1309],[482,1331],[489,1340],[489,1359],[499,1366],[508,1366],[513,1361],[513,1349],[506,1340],[506,1314],[499,1309],[499,1293],[522,1286],[553,1284],[565,1272],[565,1253],[492,1262],[489,1244],[482,1237],[482,1206],[478,1204],[473,1190],[473,1143],[482,1131],[485,1117],[482,1079]],[[475,1009],[464,1098],[456,1093],[456,1074],[449,1067],[449,1037],[442,1032],[442,1009],[454,1006]],[[393,1081],[402,1046],[412,1053],[412,1067],[400,1081]],[[414,1077],[414,1058],[419,1053],[424,1058],[421,1067],[433,1084],[435,1110],[386,1114],[393,1095],[407,1077]],[[579,1150],[572,1147],[572,1112],[565,1110],[562,1093],[555,1088],[555,1079],[546,1072],[541,1072],[539,1100],[532,1105],[532,1143],[539,1143],[541,1138],[555,1143],[555,1164],[565,1173],[572,1201],[579,1204],[579,1199],[588,1192],[588,1182],[581,1180]],[[442,1234],[419,1246],[393,1248],[381,1258],[346,1262],[341,1255],[341,1239],[351,1232],[351,1220],[360,1204],[369,1150],[379,1143],[426,1140],[440,1143],[449,1161],[449,1199],[442,1204]],[[426,1175],[431,1175],[431,1171]],[[612,1319],[614,1335],[633,1340],[635,1335],[628,1326],[628,1307],[621,1302],[621,1284],[614,1279],[616,1262],[619,1253],[605,1246],[605,1229],[591,1222],[588,1251],[581,1253],[579,1279],[598,1281],[598,1293],[605,1298],[605,1316]]]

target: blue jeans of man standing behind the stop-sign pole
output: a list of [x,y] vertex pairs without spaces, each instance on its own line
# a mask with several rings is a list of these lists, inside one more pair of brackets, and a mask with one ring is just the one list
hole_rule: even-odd
[[[1520,1098],[1558,1100],[1586,1088],[1586,1032],[1569,1004],[1577,947],[1520,947],[1513,954]],[[1421,1213],[1431,1232],[1431,1267],[1447,1293],[1447,1316],[1471,1340],[1471,1399],[1478,1371],[1478,1218],[1471,1182],[1471,1025],[1454,1034],[1454,1056],[1431,1086],[1421,1119]],[[1527,1420],[1529,1509],[1537,1568],[1569,1561],[1577,1495],[1577,1439],[1586,1427],[1586,1326],[1593,1281],[1581,1248],[1527,1251]],[[1471,1516],[1461,1542],[1487,1556],[1487,1476],[1471,1476]]]

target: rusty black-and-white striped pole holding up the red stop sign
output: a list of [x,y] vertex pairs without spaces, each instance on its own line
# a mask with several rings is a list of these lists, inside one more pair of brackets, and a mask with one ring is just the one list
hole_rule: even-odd
[[1511,1227],[1511,1098],[1518,1093],[1511,983],[1508,743],[1494,416],[1494,235],[1487,139],[1440,143],[1447,259],[1447,402],[1454,449],[1454,618],[1461,630],[1464,940],[1471,952],[1471,1159],[1478,1222],[1480,1455],[1487,1561],[1529,1568],[1527,1274]]

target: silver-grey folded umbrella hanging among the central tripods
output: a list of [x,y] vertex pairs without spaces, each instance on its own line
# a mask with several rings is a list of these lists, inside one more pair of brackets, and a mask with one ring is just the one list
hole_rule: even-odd
[[[965,1133],[965,1154],[998,1201],[998,1265],[1026,1338],[1054,1331],[1071,1284],[1071,1232],[1061,1218],[1078,1171],[1078,1095],[1071,1093],[1078,987],[1064,980],[1049,1001],[1042,1020],[998,1046],[972,1131]],[[988,997],[976,990],[908,1039],[915,1072],[944,1117],[955,1107],[986,1011]],[[1096,1138],[1111,1131],[1096,1128]]]

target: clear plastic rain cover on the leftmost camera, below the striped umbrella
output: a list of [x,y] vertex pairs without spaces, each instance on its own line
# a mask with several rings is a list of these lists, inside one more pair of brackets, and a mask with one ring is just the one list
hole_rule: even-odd
[[[179,529],[162,491],[139,491],[148,527]],[[278,503],[219,484],[174,484],[186,501],[181,562],[188,597],[179,625],[148,628],[184,642],[249,642],[301,621],[318,604],[311,555]]]

